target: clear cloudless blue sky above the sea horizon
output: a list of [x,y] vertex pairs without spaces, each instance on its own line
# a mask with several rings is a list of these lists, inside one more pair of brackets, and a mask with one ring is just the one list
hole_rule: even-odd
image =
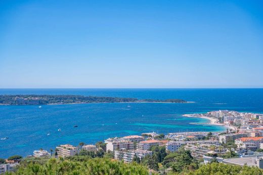
[[263,87],[263,1],[0,1],[0,88]]

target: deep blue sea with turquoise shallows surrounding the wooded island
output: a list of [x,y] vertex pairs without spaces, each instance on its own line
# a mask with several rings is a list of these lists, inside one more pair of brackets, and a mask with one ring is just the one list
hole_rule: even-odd
[[[139,99],[181,98],[195,103],[93,103],[0,106],[0,157],[32,154],[59,144],[96,143],[108,137],[177,131],[222,131],[190,125],[184,113],[229,109],[263,113],[263,89],[0,89],[0,94],[76,94]],[[130,106],[130,107],[128,107]],[[73,128],[77,125],[77,128]],[[58,129],[61,132],[58,132]],[[51,135],[47,136],[50,133]]]

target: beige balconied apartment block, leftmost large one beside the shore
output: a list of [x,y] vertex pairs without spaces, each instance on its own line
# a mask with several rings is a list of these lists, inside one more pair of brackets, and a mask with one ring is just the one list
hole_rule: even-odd
[[58,156],[66,157],[66,156],[73,156],[79,153],[79,148],[76,146],[72,146],[69,144],[60,145],[56,147]]

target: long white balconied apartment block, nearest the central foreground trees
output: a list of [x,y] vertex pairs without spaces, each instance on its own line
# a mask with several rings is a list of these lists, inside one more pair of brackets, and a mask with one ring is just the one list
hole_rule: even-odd
[[137,155],[140,159],[145,157],[146,155],[152,155],[152,151],[147,150],[116,150],[114,151],[114,158],[117,160],[123,160],[124,162],[131,162],[135,155]]

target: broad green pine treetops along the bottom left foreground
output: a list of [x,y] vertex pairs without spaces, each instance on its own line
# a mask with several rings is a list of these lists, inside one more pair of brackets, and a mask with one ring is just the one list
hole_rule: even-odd
[[66,159],[51,158],[45,165],[30,163],[26,166],[19,166],[15,172],[8,174],[30,175],[30,174],[142,174],[148,175],[149,170],[137,163],[123,163],[105,158],[87,159],[85,161],[74,161]]

